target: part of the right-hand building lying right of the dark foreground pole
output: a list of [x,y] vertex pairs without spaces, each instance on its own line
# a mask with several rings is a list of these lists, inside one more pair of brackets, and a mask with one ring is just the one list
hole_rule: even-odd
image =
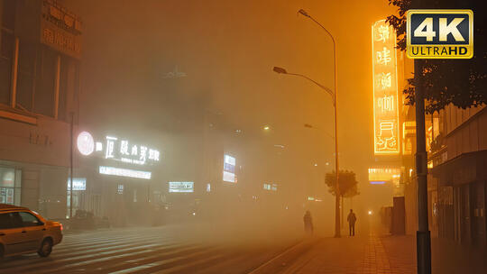
[[432,128],[439,132],[429,157],[431,182],[436,183],[429,203],[432,223],[441,237],[485,247],[486,107],[448,105],[436,116],[438,125]]

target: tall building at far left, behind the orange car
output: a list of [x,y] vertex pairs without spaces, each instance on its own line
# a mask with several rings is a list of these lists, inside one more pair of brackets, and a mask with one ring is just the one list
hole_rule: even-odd
[[0,1],[0,203],[66,215],[81,21],[52,1]]

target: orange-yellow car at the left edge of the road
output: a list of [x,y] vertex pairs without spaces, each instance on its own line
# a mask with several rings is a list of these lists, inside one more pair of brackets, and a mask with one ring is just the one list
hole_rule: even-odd
[[0,258],[35,251],[47,257],[61,240],[62,224],[26,207],[0,204]]

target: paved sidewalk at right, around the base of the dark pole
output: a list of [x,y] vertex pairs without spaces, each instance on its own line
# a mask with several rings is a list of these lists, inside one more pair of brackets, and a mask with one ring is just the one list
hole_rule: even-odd
[[[485,251],[432,240],[433,273],[487,273]],[[355,237],[321,238],[298,258],[280,261],[273,273],[416,273],[416,238],[377,230]]]

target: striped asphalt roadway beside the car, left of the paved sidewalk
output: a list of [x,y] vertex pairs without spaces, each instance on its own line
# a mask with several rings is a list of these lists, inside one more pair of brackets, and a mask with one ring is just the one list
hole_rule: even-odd
[[6,258],[0,273],[249,273],[293,244],[227,244],[189,233],[168,226],[66,234],[50,257]]

